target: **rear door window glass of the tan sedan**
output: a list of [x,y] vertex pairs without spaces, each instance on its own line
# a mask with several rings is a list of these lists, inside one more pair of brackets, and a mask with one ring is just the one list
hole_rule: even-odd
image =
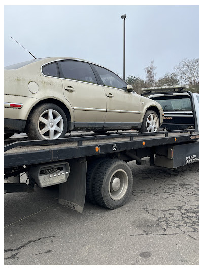
[[96,77],[89,63],[81,61],[60,61],[61,78],[97,84]]

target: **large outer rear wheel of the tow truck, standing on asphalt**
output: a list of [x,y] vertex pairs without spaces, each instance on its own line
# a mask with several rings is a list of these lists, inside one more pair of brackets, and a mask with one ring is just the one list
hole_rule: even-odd
[[93,196],[102,207],[116,209],[125,204],[132,190],[132,171],[118,159],[105,159],[96,169]]

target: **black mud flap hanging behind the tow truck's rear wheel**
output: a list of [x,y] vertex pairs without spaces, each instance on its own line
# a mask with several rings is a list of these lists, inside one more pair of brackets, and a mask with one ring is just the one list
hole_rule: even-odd
[[86,158],[69,161],[70,175],[66,183],[59,184],[59,203],[82,213],[86,193]]

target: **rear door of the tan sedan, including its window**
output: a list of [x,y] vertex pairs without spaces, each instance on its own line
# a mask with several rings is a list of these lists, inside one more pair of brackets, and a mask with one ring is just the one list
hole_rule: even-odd
[[58,62],[65,98],[74,110],[74,122],[81,127],[103,127],[106,117],[106,96],[87,62],[62,60]]

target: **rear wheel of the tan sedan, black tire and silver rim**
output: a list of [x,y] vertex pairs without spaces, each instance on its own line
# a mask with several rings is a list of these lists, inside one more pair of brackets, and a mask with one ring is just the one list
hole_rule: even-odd
[[67,118],[55,104],[37,106],[27,119],[26,133],[30,140],[63,138],[67,132]]

